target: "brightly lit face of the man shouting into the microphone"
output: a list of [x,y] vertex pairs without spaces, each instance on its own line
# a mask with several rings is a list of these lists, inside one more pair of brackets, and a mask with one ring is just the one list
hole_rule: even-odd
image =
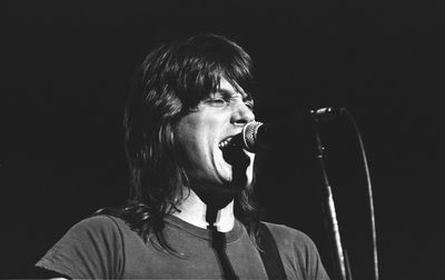
[[251,182],[254,154],[225,144],[254,119],[251,100],[221,78],[217,90],[179,121],[176,138],[191,188],[234,192]]

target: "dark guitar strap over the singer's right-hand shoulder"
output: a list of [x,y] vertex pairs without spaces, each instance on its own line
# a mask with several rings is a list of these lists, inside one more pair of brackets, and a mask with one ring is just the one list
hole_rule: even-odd
[[263,251],[259,251],[259,256],[261,256],[267,277],[274,280],[286,279],[286,272],[281,258],[279,257],[277,243],[270,230],[263,222],[259,224],[259,242],[263,249]]

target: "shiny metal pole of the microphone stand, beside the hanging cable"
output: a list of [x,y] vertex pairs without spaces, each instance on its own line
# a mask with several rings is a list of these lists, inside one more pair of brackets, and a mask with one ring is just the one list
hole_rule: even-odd
[[[345,266],[345,256],[342,247],[342,240],[340,240],[340,233],[338,229],[338,221],[337,221],[337,214],[335,211],[335,203],[334,203],[334,198],[333,198],[333,191],[329,184],[329,180],[327,177],[326,172],[326,167],[325,167],[325,161],[324,161],[324,147],[322,146],[322,140],[320,140],[320,134],[319,134],[319,119],[317,118],[316,114],[313,113],[314,120],[316,122],[316,143],[317,143],[317,159],[319,162],[319,166],[322,168],[322,174],[323,174],[323,181],[325,184],[325,199],[326,201],[323,201],[323,207],[325,210],[325,219],[327,219],[327,223],[329,227],[330,236],[329,236],[329,241],[330,246],[334,247],[334,258],[335,262],[337,264],[337,274],[339,280],[346,280],[346,266]],[[327,217],[326,217],[327,212]]]

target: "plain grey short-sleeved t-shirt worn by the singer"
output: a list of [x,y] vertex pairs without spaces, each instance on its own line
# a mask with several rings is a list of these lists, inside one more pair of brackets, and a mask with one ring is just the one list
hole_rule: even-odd
[[[288,279],[328,279],[306,234],[285,226],[266,226],[277,242]],[[156,239],[145,243],[121,219],[92,217],[73,226],[36,266],[70,278],[222,278],[209,230],[168,217],[165,234],[178,256],[159,248]],[[261,258],[239,221],[224,237],[225,253],[240,279],[267,279]]]

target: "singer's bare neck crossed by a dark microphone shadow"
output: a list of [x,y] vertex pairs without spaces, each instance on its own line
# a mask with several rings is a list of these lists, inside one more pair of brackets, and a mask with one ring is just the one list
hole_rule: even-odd
[[212,228],[227,232],[234,228],[234,200],[230,200],[221,208],[211,207],[212,203],[205,203],[192,190],[190,196],[181,201],[174,216],[199,228]]

